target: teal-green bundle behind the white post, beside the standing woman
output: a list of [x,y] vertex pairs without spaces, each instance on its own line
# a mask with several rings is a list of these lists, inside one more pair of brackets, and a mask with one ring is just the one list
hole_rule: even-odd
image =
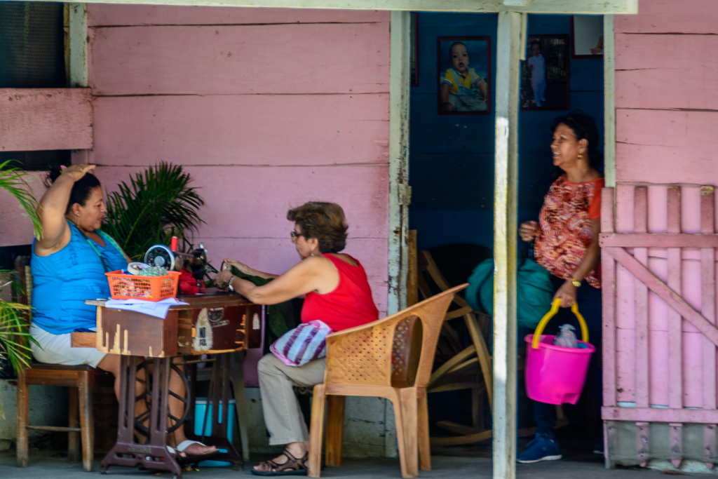
[[[466,300],[470,307],[493,316],[493,258],[482,261],[469,277]],[[551,309],[554,287],[551,273],[543,266],[524,258],[516,274],[516,319],[518,325],[534,329]]]

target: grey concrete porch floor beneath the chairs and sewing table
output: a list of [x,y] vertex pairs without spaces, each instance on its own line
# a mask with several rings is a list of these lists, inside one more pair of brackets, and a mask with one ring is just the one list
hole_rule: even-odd
[[[101,456],[95,457],[95,471]],[[256,463],[253,461],[251,464]],[[421,471],[419,478],[490,478],[491,460],[488,457],[449,457],[435,456],[432,458],[431,471]],[[243,471],[224,468],[202,468],[199,472],[185,473],[187,479],[218,479],[232,478],[238,475],[249,477],[249,465]],[[601,458],[586,456],[569,457],[567,460],[553,462],[539,462],[533,465],[518,465],[518,478],[531,479],[640,479],[656,478],[661,473],[653,470],[615,469],[606,470]],[[92,473],[90,473],[92,474]],[[94,474],[98,475],[98,472]],[[62,452],[50,450],[34,450],[30,454],[29,467],[20,469],[15,467],[14,450],[0,452],[0,478],[1,479],[80,479],[92,477],[85,475],[80,464],[70,464]],[[154,474],[127,468],[110,468],[108,479],[111,478],[162,478],[170,479],[169,473]],[[251,476],[255,477],[255,476]],[[322,471],[325,478],[351,478],[351,479],[399,479],[398,460],[370,459],[345,460],[340,468],[327,468]]]

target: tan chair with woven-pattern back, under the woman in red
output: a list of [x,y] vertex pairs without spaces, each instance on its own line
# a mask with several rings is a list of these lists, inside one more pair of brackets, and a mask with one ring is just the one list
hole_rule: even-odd
[[414,478],[432,468],[426,386],[439,331],[454,294],[437,294],[383,320],[327,336],[324,383],[314,386],[309,432],[309,476],[320,477],[324,410],[328,403],[327,465],[340,465],[345,396],[391,400],[401,475]]

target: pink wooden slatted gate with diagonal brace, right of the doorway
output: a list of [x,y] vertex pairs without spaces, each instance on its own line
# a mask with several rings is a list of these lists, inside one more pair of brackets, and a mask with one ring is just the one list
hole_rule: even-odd
[[[619,422],[630,422],[635,463],[657,457],[655,423],[668,423],[666,458],[676,467],[684,458],[709,468],[718,463],[715,223],[711,186],[602,191],[602,418],[609,461],[620,455]],[[684,434],[684,424],[702,424],[701,457],[686,454],[685,438],[701,439]]]

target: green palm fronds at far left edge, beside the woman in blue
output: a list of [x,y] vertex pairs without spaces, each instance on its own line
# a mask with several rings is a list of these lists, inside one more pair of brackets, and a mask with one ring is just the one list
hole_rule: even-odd
[[[32,229],[35,236],[42,234],[42,224],[37,217],[37,197],[35,197],[32,189],[30,189],[25,177],[27,173],[22,172],[19,168],[11,166],[11,161],[0,164],[0,190],[10,193],[22,206],[32,221]],[[0,271],[3,276],[8,271]],[[0,297],[6,287],[19,287],[12,281],[0,282]],[[0,299],[0,356],[17,371],[22,366],[29,366],[30,348],[27,346],[27,340],[34,342],[34,339],[27,332],[28,323],[25,320],[25,314],[29,312],[30,307],[17,302],[9,302]],[[0,366],[0,369],[2,366]],[[0,404],[0,418],[4,417],[2,412],[2,404]]]

